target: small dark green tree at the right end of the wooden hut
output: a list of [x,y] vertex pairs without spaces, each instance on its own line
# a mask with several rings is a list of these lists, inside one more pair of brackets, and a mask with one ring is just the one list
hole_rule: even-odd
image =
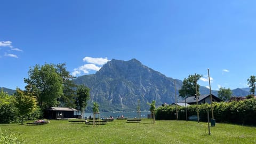
[[76,107],[77,109],[83,110],[87,105],[87,100],[90,99],[90,89],[85,85],[78,85],[77,87],[77,98],[76,98]]

